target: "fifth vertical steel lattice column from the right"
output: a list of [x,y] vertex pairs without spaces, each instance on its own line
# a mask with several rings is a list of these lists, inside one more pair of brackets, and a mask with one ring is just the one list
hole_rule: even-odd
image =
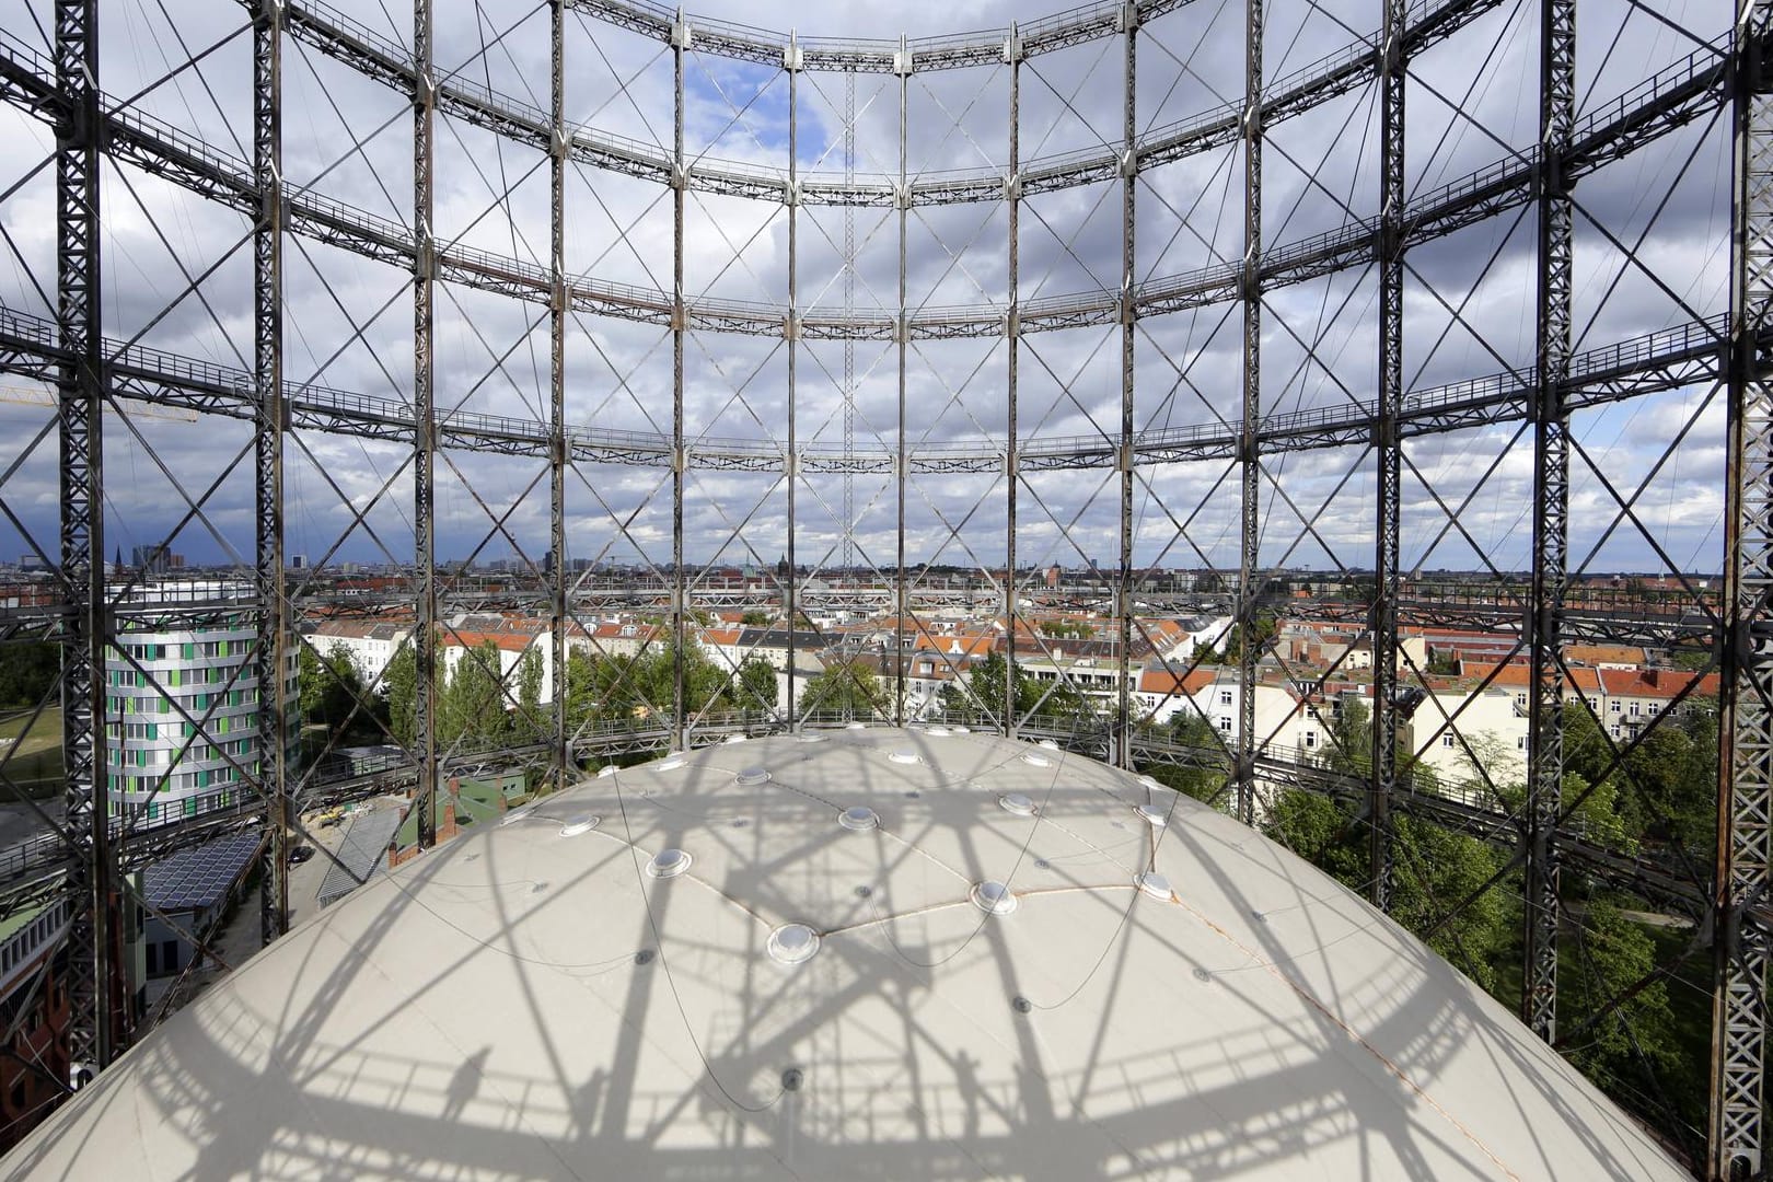
[[1121,103],[1121,441],[1115,466],[1121,470],[1121,571],[1113,588],[1115,633],[1121,654],[1115,657],[1115,719],[1110,758],[1131,767],[1131,688],[1133,675],[1133,367],[1138,344],[1138,255],[1135,253],[1138,209],[1138,0],[1121,5],[1121,37],[1126,53],[1126,82]]

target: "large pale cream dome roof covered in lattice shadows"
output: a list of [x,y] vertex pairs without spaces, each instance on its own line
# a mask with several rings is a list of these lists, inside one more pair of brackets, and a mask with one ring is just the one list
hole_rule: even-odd
[[842,730],[587,780],[301,925],[0,1166],[1686,1177],[1342,886],[1027,750]]

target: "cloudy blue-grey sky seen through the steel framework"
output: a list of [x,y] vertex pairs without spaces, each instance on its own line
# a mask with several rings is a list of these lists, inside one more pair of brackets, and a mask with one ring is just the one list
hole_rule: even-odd
[[[245,9],[191,0],[103,5],[99,85],[112,106],[250,159],[250,58]],[[411,43],[410,14],[340,4],[365,35]],[[1582,7],[1580,113],[1605,119],[1619,96],[1679,71],[1723,35],[1722,5],[1700,0]],[[1654,9],[1654,11],[1652,11]],[[803,39],[915,37],[1030,21],[1025,5],[800,5],[706,0],[700,23],[780,30]],[[1241,101],[1243,4],[1191,0],[1138,32],[1135,133],[1199,122]],[[1406,172],[1413,198],[1518,159],[1537,135],[1537,5],[1504,0],[1411,62]],[[1280,0],[1266,14],[1271,90],[1324,58],[1349,53],[1379,23],[1374,0]],[[4,0],[5,51],[46,48],[48,5]],[[546,110],[546,5],[440,0],[436,62],[461,90]],[[846,80],[789,74],[691,50],[684,55],[684,151],[704,170],[780,179],[844,174]],[[404,50],[401,50],[404,51]],[[566,19],[567,119],[582,136],[663,159],[674,142],[668,46],[585,12]],[[193,64],[195,58],[195,64]],[[1028,58],[1019,78],[1019,154],[1041,161],[1106,156],[1122,140],[1124,41],[1105,37]],[[915,58],[913,58],[915,64]],[[177,71],[163,80],[168,71]],[[855,85],[855,174],[913,183],[996,177],[1009,154],[1004,66],[913,69]],[[284,46],[284,170],[307,200],[353,218],[413,227],[410,105],[314,44]],[[1262,236],[1269,250],[1369,218],[1378,207],[1379,96],[1371,82],[1277,124],[1264,149]],[[901,152],[901,121],[904,149]],[[793,126],[791,126],[793,124]],[[0,110],[0,303],[46,315],[55,291],[51,129]],[[1576,349],[1677,330],[1727,307],[1729,126],[1707,113],[1599,168],[1576,190]],[[1245,181],[1236,145],[1149,168],[1135,184],[1135,282],[1156,287],[1243,253]],[[250,220],[135,165],[103,174],[103,317],[106,335],[229,367],[252,360]],[[846,227],[847,220],[847,227]],[[585,285],[668,292],[672,193],[651,177],[573,163],[566,177],[567,269]],[[791,223],[796,264],[789,273]],[[548,268],[548,161],[452,115],[436,119],[436,232],[454,250]],[[855,241],[855,307],[894,315],[1009,299],[1004,200],[894,209],[684,195],[684,292],[736,301],[762,315],[789,303],[808,315],[846,301],[844,243]],[[1519,370],[1532,363],[1535,227],[1512,209],[1408,255],[1404,367],[1411,388]],[[1122,276],[1119,179],[1030,195],[1019,209],[1023,305],[1103,301]],[[1635,261],[1633,261],[1635,255]],[[312,236],[285,245],[285,377],[333,397],[401,404],[411,397],[410,271],[356,257]],[[1378,374],[1378,276],[1355,266],[1264,296],[1261,386],[1269,416],[1371,402]],[[993,312],[995,315],[995,312]],[[1135,333],[1138,431],[1236,424],[1243,390],[1243,319],[1236,303],[1151,315]],[[801,445],[842,452],[844,346],[794,347],[793,406]],[[780,333],[690,331],[683,347],[684,429],[691,454],[723,441],[787,447],[791,346]],[[1025,448],[1067,438],[1113,441],[1121,431],[1119,326],[1023,337],[1018,434]],[[1009,347],[966,340],[855,342],[855,447],[899,443],[899,390],[910,448],[991,452],[1009,432]],[[537,422],[548,408],[544,303],[440,284],[436,399],[452,415]],[[41,386],[7,379],[0,556],[55,546],[55,438]],[[576,312],[567,324],[567,420],[599,431],[668,436],[672,340],[656,324]],[[1722,546],[1723,400],[1709,386],[1585,409],[1574,418],[1574,560],[1589,571],[1714,569]],[[252,560],[252,454],[246,424],[161,411],[106,418],[106,551],[168,537],[195,562]],[[401,441],[298,431],[285,461],[287,549],[310,562],[410,560],[411,450]],[[1319,569],[1372,564],[1372,464],[1363,447],[1275,452],[1262,459],[1262,556]],[[1532,526],[1532,436],[1519,424],[1411,439],[1404,466],[1404,558],[1425,569],[1518,569]],[[447,450],[436,463],[438,556],[539,562],[548,535],[548,471],[534,457]],[[672,553],[672,477],[663,466],[576,464],[567,473],[569,553],[663,564]],[[800,558],[842,556],[844,478],[794,484]],[[1236,565],[1239,477],[1223,459],[1142,468],[1133,489],[1135,556],[1161,565]],[[855,553],[895,562],[899,486],[890,470],[856,475]],[[1621,500],[1629,505],[1624,512]],[[780,468],[684,480],[684,551],[732,564],[775,562],[787,533]],[[193,512],[193,503],[199,507]],[[913,473],[906,480],[906,553],[995,564],[1005,553],[1002,470]],[[1018,486],[1023,562],[1112,565],[1119,553],[1119,477],[1106,468],[1025,473]]]

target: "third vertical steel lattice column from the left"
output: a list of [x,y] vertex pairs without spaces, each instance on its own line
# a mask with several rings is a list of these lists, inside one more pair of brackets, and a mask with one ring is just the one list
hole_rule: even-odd
[[413,743],[418,746],[418,849],[436,845],[438,789],[438,583],[436,583],[436,392],[433,388],[433,298],[436,227],[433,170],[436,80],[431,69],[431,0],[413,0],[413,564],[418,603],[413,611]]

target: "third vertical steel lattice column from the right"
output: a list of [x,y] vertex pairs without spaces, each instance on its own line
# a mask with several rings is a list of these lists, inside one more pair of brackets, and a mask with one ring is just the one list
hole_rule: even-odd
[[1385,0],[1379,58],[1379,416],[1378,528],[1372,560],[1372,785],[1369,815],[1371,897],[1392,909],[1392,792],[1397,789],[1397,592],[1402,528],[1402,447],[1397,413],[1404,400],[1404,25],[1408,0]]

